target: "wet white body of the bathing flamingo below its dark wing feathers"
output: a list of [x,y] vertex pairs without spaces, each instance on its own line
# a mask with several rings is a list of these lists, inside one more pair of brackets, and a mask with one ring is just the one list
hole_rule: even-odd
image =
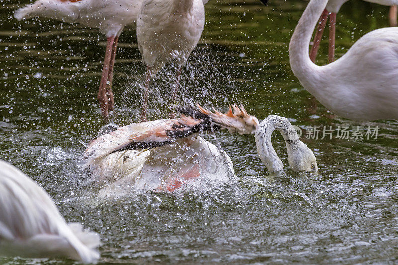
[[133,123],[102,135],[90,144],[85,155],[89,157],[87,166],[96,180],[111,183],[100,190],[102,196],[125,194],[126,186],[144,191],[200,190],[205,184],[220,185],[234,176],[229,156],[197,135],[150,150],[120,151],[101,157],[131,135],[145,135],[168,122],[170,120]]

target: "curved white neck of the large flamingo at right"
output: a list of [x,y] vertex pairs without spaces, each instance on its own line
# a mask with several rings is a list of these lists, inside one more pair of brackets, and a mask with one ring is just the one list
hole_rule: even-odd
[[302,14],[289,43],[289,61],[300,83],[312,93],[311,88],[322,81],[320,66],[309,58],[309,42],[328,0],[311,0]]

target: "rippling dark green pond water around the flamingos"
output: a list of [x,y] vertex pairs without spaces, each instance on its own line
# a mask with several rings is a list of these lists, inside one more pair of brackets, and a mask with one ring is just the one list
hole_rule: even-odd
[[[398,124],[334,117],[292,74],[288,43],[307,2],[213,1],[202,40],[183,68],[180,101],[225,109],[241,102],[259,119],[287,117],[310,126],[379,126],[367,140],[305,139],[319,173],[270,175],[253,136],[217,133],[237,185],[182,196],[133,193],[103,200],[82,168],[90,139],[105,125],[96,100],[105,39],[95,29],[57,21],[17,22],[28,1],[1,1],[0,158],[37,181],[68,222],[100,233],[100,264],[395,263],[398,258]],[[337,57],[363,34],[388,26],[388,8],[353,0],[337,17]],[[327,30],[326,30],[327,33]],[[322,42],[319,64],[325,64]],[[120,38],[112,122],[138,120],[144,66],[134,28]],[[149,118],[168,116],[174,69],[152,84]],[[352,133],[352,132],[351,132]],[[214,136],[207,139],[215,143]],[[321,137],[319,137],[321,138]],[[72,264],[71,260],[0,258],[0,264]]]

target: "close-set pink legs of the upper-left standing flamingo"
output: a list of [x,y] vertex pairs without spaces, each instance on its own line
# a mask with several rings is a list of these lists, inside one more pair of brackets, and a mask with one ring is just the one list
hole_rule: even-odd
[[100,89],[97,94],[97,99],[100,102],[102,116],[109,119],[109,92],[107,90],[107,81],[109,76],[110,61],[112,57],[113,43],[115,36],[109,37],[106,44],[105,61],[103,63],[102,77]]

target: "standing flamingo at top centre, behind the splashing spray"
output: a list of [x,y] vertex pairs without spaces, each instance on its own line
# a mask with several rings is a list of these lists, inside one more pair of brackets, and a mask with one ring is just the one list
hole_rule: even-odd
[[[268,0],[260,0],[267,4]],[[151,76],[167,62],[177,64],[171,102],[175,103],[181,67],[199,42],[204,28],[204,4],[208,0],[144,0],[137,19],[137,42],[147,66],[140,121],[147,121]],[[174,118],[171,113],[170,117]]]

